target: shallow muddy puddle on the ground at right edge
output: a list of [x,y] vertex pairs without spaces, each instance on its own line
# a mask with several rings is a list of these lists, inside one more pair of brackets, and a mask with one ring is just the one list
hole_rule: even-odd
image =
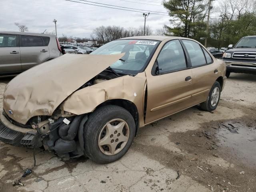
[[[244,122],[225,122],[218,131],[219,142],[222,146],[230,148],[230,153],[236,155],[245,164],[256,166],[256,138],[255,125]],[[237,133],[232,133],[236,131]]]

